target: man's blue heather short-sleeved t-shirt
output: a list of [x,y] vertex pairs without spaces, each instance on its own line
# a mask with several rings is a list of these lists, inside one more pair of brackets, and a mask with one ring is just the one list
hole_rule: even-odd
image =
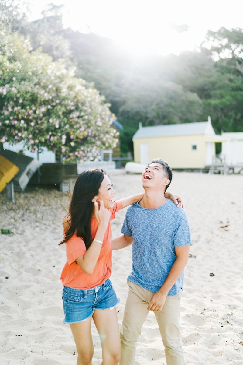
[[[128,208],[121,229],[122,234],[134,239],[128,280],[157,292],[176,260],[175,246],[192,243],[188,217],[171,200],[155,209],[143,208],[138,203]],[[178,294],[183,280],[184,270],[168,295]]]

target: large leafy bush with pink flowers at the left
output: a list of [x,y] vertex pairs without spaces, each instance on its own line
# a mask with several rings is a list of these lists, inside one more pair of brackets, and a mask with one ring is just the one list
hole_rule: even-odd
[[94,159],[102,148],[114,148],[115,116],[104,97],[74,77],[62,61],[40,50],[16,32],[0,31],[0,142],[42,147],[65,161]]

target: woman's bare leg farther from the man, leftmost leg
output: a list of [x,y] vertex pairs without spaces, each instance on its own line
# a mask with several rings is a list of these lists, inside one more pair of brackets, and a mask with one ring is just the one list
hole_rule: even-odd
[[94,355],[94,346],[91,336],[91,318],[78,323],[70,324],[76,344],[78,358],[77,365],[91,365]]

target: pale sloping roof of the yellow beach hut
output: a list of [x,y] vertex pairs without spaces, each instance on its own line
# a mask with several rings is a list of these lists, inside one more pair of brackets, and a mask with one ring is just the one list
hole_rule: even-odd
[[166,126],[141,127],[134,134],[133,139],[196,134],[215,135],[215,132],[209,122],[168,124]]

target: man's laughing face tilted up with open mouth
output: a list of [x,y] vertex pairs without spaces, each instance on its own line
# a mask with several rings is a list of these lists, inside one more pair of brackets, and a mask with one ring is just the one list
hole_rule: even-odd
[[169,179],[165,176],[163,166],[157,162],[148,165],[142,173],[142,186],[144,188],[162,188],[168,185]]

